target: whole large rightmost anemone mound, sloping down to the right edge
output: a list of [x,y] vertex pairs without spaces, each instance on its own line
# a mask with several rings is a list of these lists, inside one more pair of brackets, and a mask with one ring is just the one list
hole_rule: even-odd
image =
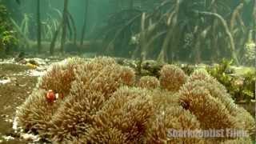
[[182,107],[190,110],[198,118],[203,129],[232,128],[246,130],[249,134],[253,134],[254,118],[246,110],[235,105],[226,90],[218,86],[220,85],[218,82],[214,82],[214,79],[210,82],[210,77],[203,79],[204,81],[188,81],[182,86],[178,92]]

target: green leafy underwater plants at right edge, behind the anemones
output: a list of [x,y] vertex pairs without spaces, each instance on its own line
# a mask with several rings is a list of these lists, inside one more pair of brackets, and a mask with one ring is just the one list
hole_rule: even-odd
[[231,64],[232,61],[223,59],[218,66],[208,66],[206,70],[226,87],[236,102],[250,102],[255,99],[256,70],[247,70],[245,74],[238,76],[234,74]]

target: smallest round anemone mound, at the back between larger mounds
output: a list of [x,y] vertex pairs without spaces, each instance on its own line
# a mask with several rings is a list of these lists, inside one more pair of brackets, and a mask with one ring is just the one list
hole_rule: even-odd
[[138,86],[146,89],[156,89],[160,86],[160,82],[158,78],[151,77],[151,76],[144,76],[140,78],[138,82]]

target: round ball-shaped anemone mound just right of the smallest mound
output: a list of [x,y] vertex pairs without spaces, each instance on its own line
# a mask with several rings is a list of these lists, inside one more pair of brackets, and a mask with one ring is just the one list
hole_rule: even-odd
[[186,79],[186,74],[178,66],[166,65],[160,71],[160,84],[166,90],[178,91]]

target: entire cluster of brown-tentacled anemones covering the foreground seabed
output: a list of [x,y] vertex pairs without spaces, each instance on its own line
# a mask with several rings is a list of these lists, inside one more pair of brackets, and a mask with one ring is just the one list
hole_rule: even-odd
[[[54,64],[18,109],[18,124],[54,143],[251,143],[250,138],[173,137],[170,130],[246,130],[254,118],[206,71],[166,65],[135,81],[113,58]],[[137,76],[139,77],[139,76]],[[62,94],[46,100],[48,90]]]

